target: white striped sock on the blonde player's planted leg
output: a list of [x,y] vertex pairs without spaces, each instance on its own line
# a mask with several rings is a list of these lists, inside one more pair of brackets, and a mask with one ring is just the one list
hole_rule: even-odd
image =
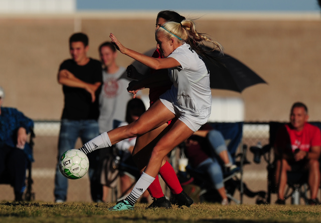
[[148,188],[148,186],[154,181],[154,177],[142,172],[140,178],[137,180],[134,188],[131,190],[130,194],[125,198],[132,206],[135,204],[136,200],[141,196],[143,192]]

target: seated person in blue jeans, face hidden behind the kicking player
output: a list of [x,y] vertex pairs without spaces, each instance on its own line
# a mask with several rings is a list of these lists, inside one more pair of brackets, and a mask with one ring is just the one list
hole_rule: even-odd
[[185,154],[193,168],[209,174],[210,180],[222,197],[221,204],[227,205],[229,201],[223,183],[223,171],[233,171],[237,166],[232,163],[233,159],[222,133],[208,124],[203,125],[186,140]]

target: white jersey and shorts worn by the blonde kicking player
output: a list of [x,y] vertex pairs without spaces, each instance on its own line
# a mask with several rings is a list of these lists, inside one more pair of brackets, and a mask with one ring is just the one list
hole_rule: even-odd
[[[169,69],[173,85],[161,95],[161,99],[172,103],[174,113],[179,119],[182,119],[180,118],[182,115],[192,119],[188,122],[192,122],[192,125],[195,123],[194,127],[183,122],[195,131],[207,122],[211,114],[212,93],[209,71],[202,58],[187,43],[176,48],[168,57],[175,58],[181,67]],[[164,104],[168,107],[166,103]]]

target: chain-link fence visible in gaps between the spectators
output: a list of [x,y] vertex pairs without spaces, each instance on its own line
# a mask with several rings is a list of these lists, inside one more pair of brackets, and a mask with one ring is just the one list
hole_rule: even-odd
[[[32,164],[33,192],[35,200],[54,201],[54,176],[57,163],[59,121],[35,121],[34,158]],[[243,126],[243,144],[247,146],[247,160],[249,164],[244,166],[244,182],[251,190],[266,190],[267,188],[267,163],[261,160],[259,164],[253,162],[253,154],[250,146],[260,142],[267,144],[269,139],[268,122],[245,122]],[[76,148],[82,145],[80,139],[76,142]],[[13,189],[10,185],[0,184],[0,199],[13,200]],[[237,194],[236,194],[237,196]],[[69,180],[67,201],[91,202],[89,190],[89,178],[86,174],[78,180]],[[243,203],[255,203],[255,197],[243,197]]]

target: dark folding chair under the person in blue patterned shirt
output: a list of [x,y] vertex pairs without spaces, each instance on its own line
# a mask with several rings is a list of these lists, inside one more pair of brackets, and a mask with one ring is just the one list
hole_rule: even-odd
[[[34,147],[34,138],[35,138],[35,133],[34,129],[30,128],[30,134],[29,134],[29,140],[25,144],[24,151],[27,156],[27,172],[26,172],[26,189],[23,195],[23,199],[26,201],[31,201],[35,199],[35,193],[32,191],[32,184],[33,184],[33,179],[32,179],[32,162],[34,161],[33,158],[33,147]],[[0,177],[0,184],[10,184],[13,185],[12,182],[10,181],[10,177],[5,174]]]

